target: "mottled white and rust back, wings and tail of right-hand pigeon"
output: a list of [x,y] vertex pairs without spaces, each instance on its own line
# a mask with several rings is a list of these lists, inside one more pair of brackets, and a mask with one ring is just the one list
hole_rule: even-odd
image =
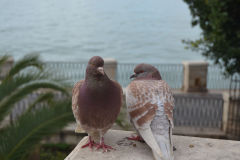
[[[165,152],[171,151],[171,137],[169,136],[166,139],[166,137],[158,134],[158,127],[162,127],[161,122],[157,126],[154,124],[159,121],[159,118],[165,118],[167,123],[166,126],[163,126],[163,129],[171,135],[174,100],[167,83],[162,80],[136,80],[131,82],[126,89],[126,104],[134,127],[152,148],[153,153],[158,155],[160,159],[163,156],[166,157]],[[170,142],[170,144],[168,143],[168,149],[162,148],[159,144],[158,141],[163,139],[166,143]]]

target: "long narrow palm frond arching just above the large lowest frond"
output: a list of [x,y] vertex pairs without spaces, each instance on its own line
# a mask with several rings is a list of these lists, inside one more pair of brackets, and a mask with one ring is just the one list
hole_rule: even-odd
[[68,92],[61,86],[59,83],[54,83],[51,81],[33,81],[22,85],[22,87],[13,91],[10,95],[4,97],[0,101],[0,123],[4,119],[4,117],[9,113],[10,109],[13,107],[13,104],[27,96],[28,94],[40,89],[40,88],[47,88],[56,91],[63,92],[68,95]]

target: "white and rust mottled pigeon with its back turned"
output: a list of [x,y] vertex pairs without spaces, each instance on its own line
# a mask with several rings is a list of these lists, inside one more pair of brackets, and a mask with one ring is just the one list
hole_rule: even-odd
[[156,160],[173,160],[174,98],[159,71],[149,64],[139,64],[126,88],[126,105],[137,134],[152,149]]

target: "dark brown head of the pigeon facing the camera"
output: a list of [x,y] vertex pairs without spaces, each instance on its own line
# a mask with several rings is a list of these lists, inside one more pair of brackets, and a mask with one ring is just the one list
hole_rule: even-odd
[[99,56],[94,56],[88,61],[86,70],[86,79],[90,80],[101,80],[106,79],[107,75],[103,69],[104,61]]

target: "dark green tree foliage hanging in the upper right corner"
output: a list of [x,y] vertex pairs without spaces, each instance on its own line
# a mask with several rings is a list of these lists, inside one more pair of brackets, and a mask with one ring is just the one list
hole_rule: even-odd
[[240,73],[240,0],[184,0],[199,25],[201,37],[185,41],[190,48],[225,67],[225,73]]

